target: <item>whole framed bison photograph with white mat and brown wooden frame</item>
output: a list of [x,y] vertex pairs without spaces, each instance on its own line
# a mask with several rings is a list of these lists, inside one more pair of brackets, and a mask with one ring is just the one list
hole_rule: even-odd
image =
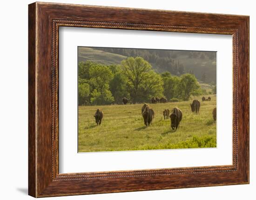
[[29,195],[249,183],[249,16],[28,8]]

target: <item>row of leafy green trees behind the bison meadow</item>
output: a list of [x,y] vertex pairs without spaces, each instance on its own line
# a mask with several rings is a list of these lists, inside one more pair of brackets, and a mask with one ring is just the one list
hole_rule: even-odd
[[79,105],[121,104],[123,97],[130,103],[149,102],[152,97],[189,100],[191,95],[202,94],[195,75],[159,74],[141,57],[129,57],[120,65],[78,64]]

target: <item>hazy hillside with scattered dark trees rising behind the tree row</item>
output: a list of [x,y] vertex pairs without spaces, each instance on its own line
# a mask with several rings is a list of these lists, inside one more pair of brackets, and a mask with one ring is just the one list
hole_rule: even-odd
[[194,74],[204,83],[216,84],[216,52],[79,47],[78,61],[119,65],[127,57],[140,56],[155,72],[169,71],[172,75]]

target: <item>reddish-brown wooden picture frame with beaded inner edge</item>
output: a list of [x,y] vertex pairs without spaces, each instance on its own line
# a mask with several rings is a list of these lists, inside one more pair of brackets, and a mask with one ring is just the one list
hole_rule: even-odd
[[[99,194],[249,183],[249,16],[33,3],[28,6],[28,194]],[[60,26],[233,36],[233,164],[59,174]]]

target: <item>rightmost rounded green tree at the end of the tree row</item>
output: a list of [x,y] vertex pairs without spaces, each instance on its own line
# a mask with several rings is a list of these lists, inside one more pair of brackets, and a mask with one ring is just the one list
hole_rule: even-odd
[[195,75],[183,74],[180,77],[179,91],[183,100],[189,100],[191,93],[200,88]]

